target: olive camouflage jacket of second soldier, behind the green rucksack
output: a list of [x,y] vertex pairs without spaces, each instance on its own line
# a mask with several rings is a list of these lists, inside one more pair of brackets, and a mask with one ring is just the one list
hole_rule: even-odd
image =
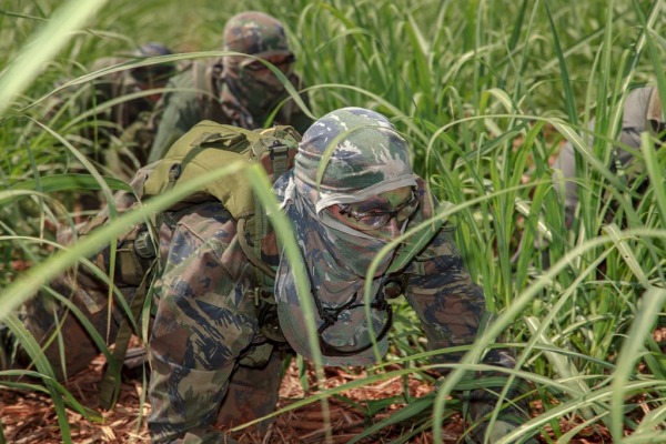
[[[155,114],[159,115],[159,123],[157,123],[158,130],[150,150],[149,162],[160,160],[173,142],[202,120],[248,129],[263,127],[272,109],[266,109],[264,115],[250,115],[238,101],[228,101],[223,105],[220,98],[231,97],[231,93],[225,90],[223,82],[216,80],[221,72],[222,67],[219,63],[199,62],[170,80],[167,88],[178,91],[165,93],[158,103]],[[296,89],[302,88],[301,80],[295,74],[292,74],[290,80]],[[283,95],[280,101],[284,98],[286,95]],[[305,93],[301,94],[301,99],[309,104]],[[275,123],[292,125],[303,133],[312,121],[293,101],[290,101],[280,109]]]

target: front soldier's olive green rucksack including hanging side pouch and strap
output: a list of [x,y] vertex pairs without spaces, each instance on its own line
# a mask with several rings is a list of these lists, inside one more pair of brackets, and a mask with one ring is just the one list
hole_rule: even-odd
[[[292,168],[300,140],[301,135],[289,125],[246,130],[204,120],[175,141],[162,160],[150,165],[152,171],[143,183],[142,193],[139,194],[143,200],[160,195],[179,183],[200,178],[202,174],[238,161],[261,164],[271,181],[274,181]],[[222,202],[238,221],[239,243],[254,265],[259,287],[272,290],[275,271],[261,261],[261,241],[269,233],[268,218],[263,205],[254,199],[252,185],[241,172],[206,183],[164,213],[158,214],[155,225],[161,226],[165,223],[173,229],[176,220],[170,218],[171,214],[214,200]],[[97,225],[100,223],[103,222],[98,221]],[[152,273],[154,263],[159,260],[155,246],[151,245],[157,242],[147,239],[149,232],[145,226],[138,226],[132,230],[135,235],[124,236],[125,242],[118,245],[117,262],[120,263],[117,264],[117,270],[121,272],[120,275],[117,273],[115,280],[121,284],[138,286],[131,304],[134,319],[139,317],[148,293],[149,280],[145,275]],[[153,231],[155,232],[157,230]],[[100,253],[101,255],[103,253]],[[147,261],[151,259],[153,262],[150,268],[147,268]],[[138,274],[142,273],[141,279]],[[112,408],[118,400],[122,362],[131,335],[132,329],[125,319],[119,327],[113,359],[109,362],[100,389],[100,403],[104,408]]]

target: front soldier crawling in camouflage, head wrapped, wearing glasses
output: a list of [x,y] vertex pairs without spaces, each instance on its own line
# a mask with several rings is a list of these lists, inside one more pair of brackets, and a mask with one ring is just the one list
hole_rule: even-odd
[[[188,168],[181,169],[180,161],[170,163],[176,159],[172,150],[191,148],[193,140],[201,140],[205,135],[201,125],[213,128],[214,123],[196,125],[153,170],[138,173],[133,181],[138,194],[142,190],[143,194],[157,195],[172,186],[173,180],[186,176]],[[209,138],[230,140],[218,138],[214,131],[204,139]],[[210,151],[196,147],[196,155]],[[179,159],[184,158],[191,157],[185,153]],[[324,159],[326,168],[317,178]],[[171,214],[170,230],[160,243],[164,271],[157,286],[149,389],[149,431],[155,443],[233,442],[229,427],[274,411],[285,354],[313,355],[295,290],[295,265],[284,255],[274,233],[256,235],[256,214],[252,230],[243,213],[232,210],[238,205],[235,194],[243,189],[239,185],[243,182],[233,183],[233,190],[226,185],[224,191],[232,199],[192,201]],[[380,354],[385,354],[392,325],[389,299],[401,293],[420,317],[428,349],[474,342],[487,320],[485,299],[463,265],[451,229],[436,224],[428,224],[431,231],[411,236],[384,256],[369,283],[372,317],[369,321],[365,316],[363,289],[371,262],[387,242],[428,220],[435,211],[425,182],[412,171],[404,139],[385,117],[345,108],[317,120],[297,143],[294,167],[276,178],[274,192],[295,230],[316,307],[317,346],[325,365],[373,364],[379,357],[373,339]],[[122,204],[121,198],[118,202]],[[137,264],[137,270],[124,266],[122,260],[119,268],[139,279],[143,271],[139,270],[142,250],[137,249],[138,239],[131,248],[121,244],[123,251],[139,256],[128,262]],[[80,290],[89,289],[75,289]],[[95,327],[107,327],[105,311],[99,311],[94,319]],[[39,317],[27,319],[36,320]],[[37,331],[41,327],[34,326]],[[63,330],[63,335],[74,332]],[[49,337],[43,333],[41,337]],[[83,347],[75,335],[64,342],[81,345],[74,349],[95,350],[90,343]],[[50,356],[54,362],[57,350],[50,350],[56,351]],[[65,355],[77,357],[68,360],[68,366],[91,357],[80,359],[82,355],[70,349]],[[433,360],[445,364],[460,357],[461,353],[443,350]],[[505,369],[515,365],[512,353],[500,349],[488,351],[484,362]],[[446,373],[445,367],[442,373]],[[488,426],[490,413],[498,402],[496,394],[506,381],[503,375],[500,370],[493,372],[496,386],[464,396],[475,442],[483,442],[486,433],[490,442],[495,442],[528,417],[527,403],[521,397],[523,389],[515,384],[507,394],[511,403]],[[269,423],[264,420],[256,430],[264,431]]]

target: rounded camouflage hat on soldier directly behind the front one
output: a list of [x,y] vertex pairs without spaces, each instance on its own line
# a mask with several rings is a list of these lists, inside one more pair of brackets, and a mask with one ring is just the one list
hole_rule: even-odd
[[223,48],[251,56],[291,54],[282,23],[259,11],[242,12],[226,22]]

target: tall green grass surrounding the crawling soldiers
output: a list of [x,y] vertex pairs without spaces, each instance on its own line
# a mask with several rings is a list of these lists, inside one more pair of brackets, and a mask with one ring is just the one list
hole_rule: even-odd
[[[401,400],[408,405],[383,425],[413,416],[421,421],[418,431],[445,421],[455,407],[446,396],[471,372],[488,370],[478,355],[504,335],[522,365],[512,374],[531,381],[543,405],[522,436],[549,426],[564,443],[583,427],[598,426],[616,443],[666,442],[666,359],[664,344],[652,335],[666,315],[666,150],[655,150],[644,135],[636,157],[645,162],[650,185],[640,193],[608,165],[626,92],[652,82],[666,97],[664,2],[232,3],[10,0],[0,6],[0,320],[31,353],[39,356],[39,347],[16,319],[20,303],[128,225],[179,199],[174,190],[71,250],[57,244],[49,226],[81,218],[74,202],[82,191],[110,196],[123,188],[90,160],[94,140],[79,135],[90,123],[68,108],[97,75],[85,67],[145,41],[182,52],[172,57],[176,60],[219,54],[225,20],[241,8],[260,9],[287,26],[315,117],[343,105],[375,109],[411,141],[416,171],[453,204],[440,216],[456,226],[466,265],[497,312],[465,360],[450,366],[436,395]],[[185,54],[193,51],[218,52]],[[58,87],[62,79],[71,85]],[[64,105],[49,112],[54,100]],[[597,125],[588,145],[579,134],[592,118]],[[556,194],[562,184],[553,184],[549,167],[565,139],[586,167],[578,179],[581,213],[571,229]],[[81,172],[84,179],[71,175]],[[270,203],[265,178],[246,173]],[[289,238],[289,230],[283,232]],[[30,269],[23,271],[23,264]],[[396,317],[387,360],[403,363],[398,373],[420,373],[427,353],[402,302]],[[52,375],[46,362],[38,361],[37,370]],[[376,369],[354,385],[392,372]],[[59,412],[67,405],[100,420],[75,394],[49,377],[40,381]],[[434,416],[424,418],[424,410]],[[64,414],[59,417],[63,441],[71,442]],[[562,430],[563,417],[575,417],[578,426]],[[432,428],[437,440],[441,427]]]

